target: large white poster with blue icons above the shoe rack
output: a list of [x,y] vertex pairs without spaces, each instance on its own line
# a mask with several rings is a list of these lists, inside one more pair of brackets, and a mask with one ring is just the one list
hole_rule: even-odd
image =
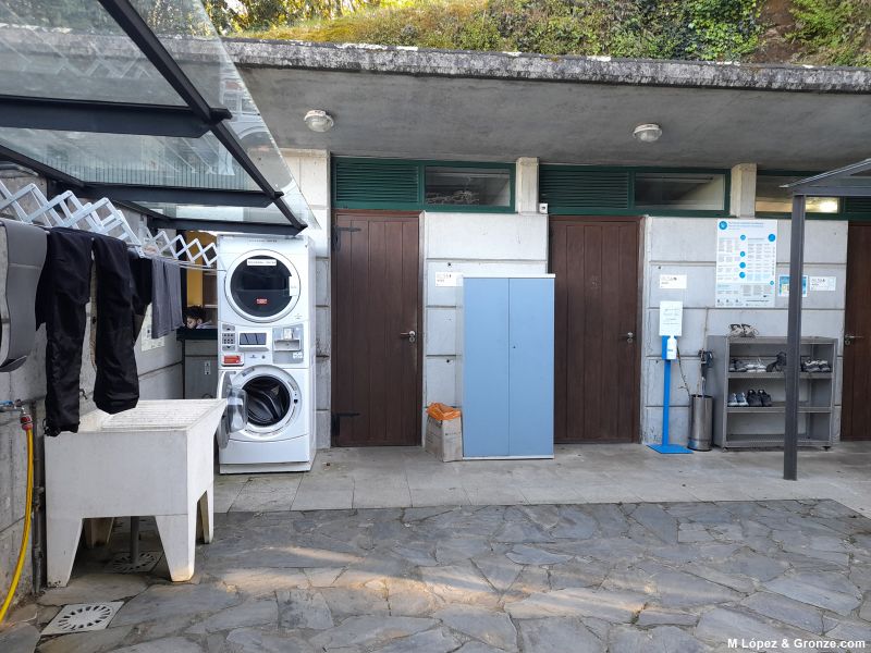
[[721,220],[716,225],[717,307],[774,307],[776,220]]

